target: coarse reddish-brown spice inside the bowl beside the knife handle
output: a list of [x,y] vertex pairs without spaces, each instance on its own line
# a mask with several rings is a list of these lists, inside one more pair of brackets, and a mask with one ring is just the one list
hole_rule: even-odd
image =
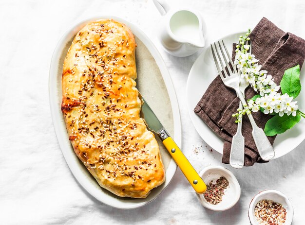
[[222,196],[225,194],[225,189],[228,188],[229,181],[226,177],[221,176],[219,179],[212,180],[207,185],[207,190],[203,194],[207,202],[212,205],[217,205],[222,201]]

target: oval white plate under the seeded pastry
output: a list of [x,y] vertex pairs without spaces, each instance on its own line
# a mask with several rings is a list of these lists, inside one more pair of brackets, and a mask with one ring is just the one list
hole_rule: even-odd
[[[160,88],[160,85],[164,85],[165,87],[162,87],[163,91],[167,89],[168,97],[169,98],[169,104],[172,105],[172,124],[170,130],[172,130],[172,133],[174,133],[174,139],[176,143],[180,146],[181,145],[181,124],[180,124],[180,114],[179,114],[179,108],[178,103],[176,99],[176,95],[174,92],[174,88],[172,86],[172,80],[170,78],[169,72],[165,66],[164,61],[161,58],[161,55],[155,48],[155,46],[152,44],[150,39],[135,25],[129,23],[128,21],[125,21],[118,17],[112,17],[112,16],[105,16],[105,17],[95,17],[86,19],[85,21],[81,21],[74,25],[63,37],[60,39],[59,43],[57,44],[57,47],[55,49],[55,52],[52,57],[51,67],[50,67],[50,77],[49,77],[49,98],[50,98],[50,106],[51,106],[51,114],[52,119],[55,127],[56,136],[58,139],[58,143],[60,145],[62,154],[71,170],[73,175],[75,176],[78,183],[87,190],[92,196],[94,196],[97,200],[100,202],[107,204],[109,206],[112,206],[114,208],[121,208],[121,209],[130,209],[130,208],[138,208],[141,206],[144,206],[154,200],[170,183],[172,180],[172,177],[176,171],[176,164],[172,158],[170,158],[170,155],[165,152],[165,150],[162,150],[162,146],[160,146],[161,156],[164,162],[164,167],[166,170],[166,180],[165,183],[163,183],[161,186],[155,188],[152,190],[150,195],[145,199],[134,199],[134,198],[122,198],[118,197],[108,190],[105,190],[101,188],[96,180],[93,178],[93,176],[87,171],[87,169],[84,167],[84,165],[80,162],[80,160],[77,158],[76,154],[74,153],[73,147],[69,141],[69,137],[67,134],[65,122],[63,120],[63,116],[61,113],[61,96],[62,96],[62,89],[61,89],[61,74],[62,74],[62,64],[64,57],[67,53],[68,48],[71,45],[71,42],[76,35],[76,33],[83,28],[89,21],[97,20],[97,19],[103,19],[103,18],[113,18],[117,21],[120,21],[122,23],[125,23],[128,27],[131,28],[133,35],[135,35],[135,38],[137,40],[140,40],[138,43],[138,49],[142,48],[147,51],[147,53],[151,54],[150,60],[147,60],[148,62],[141,62],[142,68],[149,66],[150,63],[153,63],[157,65],[159,68],[158,74],[160,74],[160,78],[158,80],[162,80],[159,83],[157,82],[155,85],[150,87],[144,87],[143,91],[141,89],[141,92],[143,96],[146,98],[145,92],[149,93],[149,95],[153,95],[153,91],[158,91],[158,88]],[[139,46],[139,44],[142,46]],[[137,50],[136,50],[137,51]],[[146,55],[146,54],[145,54]],[[153,60],[154,59],[154,60]],[[137,70],[139,69],[137,65]],[[155,73],[156,74],[156,73]],[[141,74],[138,73],[138,77]],[[139,79],[139,78],[138,78]],[[140,83],[145,83],[143,81],[140,81]],[[158,86],[159,85],[159,86]],[[152,92],[149,92],[151,90]],[[144,93],[143,93],[144,92]],[[162,91],[159,91],[162,92]],[[152,98],[157,95],[148,96],[149,98]],[[163,99],[164,100],[164,99]],[[163,101],[162,98],[159,99],[159,101]],[[154,99],[155,101],[155,99]],[[158,101],[156,101],[158,102]],[[152,106],[152,105],[151,105]],[[152,107],[153,108],[153,107]],[[168,108],[168,105],[167,105]],[[168,110],[169,111],[169,110]],[[159,109],[159,111],[155,112],[157,115],[159,114],[165,114],[166,110],[162,112],[162,108]],[[169,117],[169,114],[165,115]],[[162,118],[160,118],[162,119]],[[163,118],[164,119],[164,118]],[[170,132],[171,133],[171,132]],[[158,139],[158,138],[157,138]],[[162,143],[162,142],[161,142]],[[168,155],[168,156],[167,156]]]

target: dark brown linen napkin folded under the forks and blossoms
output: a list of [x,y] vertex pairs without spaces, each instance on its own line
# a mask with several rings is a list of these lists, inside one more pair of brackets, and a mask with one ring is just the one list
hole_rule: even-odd
[[[291,33],[285,33],[267,18],[261,19],[249,37],[252,42],[252,53],[259,59],[262,69],[266,69],[272,75],[277,85],[280,84],[286,69],[298,64],[302,67],[305,59],[305,40]],[[233,48],[232,58],[234,58],[234,53]],[[245,99],[250,99],[256,94],[251,87],[248,87]],[[226,87],[217,76],[194,109],[194,112],[217,135],[224,138],[223,163],[229,163],[231,140],[237,129],[232,114],[236,113],[238,105],[239,99],[236,97],[235,91]],[[263,129],[271,118],[270,115],[262,112],[252,115],[257,125]],[[252,166],[255,162],[266,162],[259,156],[251,132],[251,124],[248,117],[245,116],[242,126],[246,145],[245,166]],[[268,139],[273,144],[275,137],[268,137]]]

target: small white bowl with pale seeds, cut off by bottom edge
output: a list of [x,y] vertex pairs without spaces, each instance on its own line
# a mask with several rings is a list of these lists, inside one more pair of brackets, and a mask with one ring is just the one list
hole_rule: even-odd
[[282,192],[264,190],[252,199],[248,216],[251,225],[291,225],[293,207]]

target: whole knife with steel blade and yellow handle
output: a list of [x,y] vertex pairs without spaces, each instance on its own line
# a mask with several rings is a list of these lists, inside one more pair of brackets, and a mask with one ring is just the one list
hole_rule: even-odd
[[158,118],[152,111],[151,107],[147,104],[145,99],[142,96],[140,98],[142,99],[142,113],[144,116],[144,121],[148,129],[156,133],[161,138],[165,148],[175,160],[182,173],[188,179],[193,189],[198,194],[203,194],[207,189],[206,184],[199,176],[199,174],[195,171],[195,169],[192,167],[187,157],[183,155],[178,145],[174,142],[172,137],[169,135],[164,126],[158,120]]

